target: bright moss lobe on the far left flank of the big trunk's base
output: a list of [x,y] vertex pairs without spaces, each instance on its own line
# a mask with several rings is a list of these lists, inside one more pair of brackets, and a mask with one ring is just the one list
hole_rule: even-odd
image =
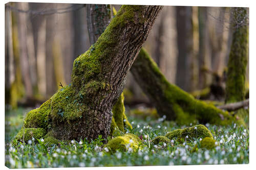
[[31,110],[24,120],[25,128],[44,128],[48,126],[48,115],[51,112],[51,99],[43,103],[39,108]]

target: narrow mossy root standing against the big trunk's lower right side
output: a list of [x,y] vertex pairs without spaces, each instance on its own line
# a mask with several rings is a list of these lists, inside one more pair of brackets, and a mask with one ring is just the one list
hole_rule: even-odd
[[132,129],[132,125],[129,123],[125,115],[125,107],[123,101],[124,95],[122,93],[112,109],[114,121],[118,126],[119,130],[121,130],[122,132],[124,132],[124,127]]

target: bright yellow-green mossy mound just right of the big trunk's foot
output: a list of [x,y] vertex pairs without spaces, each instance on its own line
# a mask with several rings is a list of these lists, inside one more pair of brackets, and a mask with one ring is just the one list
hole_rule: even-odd
[[136,150],[142,144],[140,138],[134,134],[127,133],[123,136],[117,136],[111,139],[106,147],[109,148],[112,152],[115,151],[129,151],[129,148]]

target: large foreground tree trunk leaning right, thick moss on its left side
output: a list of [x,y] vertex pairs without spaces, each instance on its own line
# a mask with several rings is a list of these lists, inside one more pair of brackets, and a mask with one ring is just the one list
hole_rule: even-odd
[[48,131],[57,139],[106,139],[127,71],[161,9],[123,5],[96,43],[75,59],[71,84],[27,114],[25,133],[37,138]]

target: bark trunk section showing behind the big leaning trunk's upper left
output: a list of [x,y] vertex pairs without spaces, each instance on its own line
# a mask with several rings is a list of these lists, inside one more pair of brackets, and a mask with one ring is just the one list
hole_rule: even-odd
[[109,25],[111,19],[111,5],[87,4],[87,27],[91,44],[95,43],[99,36]]

